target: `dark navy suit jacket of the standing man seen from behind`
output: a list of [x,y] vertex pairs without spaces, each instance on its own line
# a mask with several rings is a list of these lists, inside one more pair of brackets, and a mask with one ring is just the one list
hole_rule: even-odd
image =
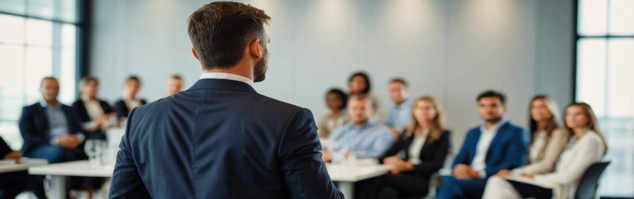
[[198,80],[130,112],[110,198],[343,198],[316,131],[308,109]]

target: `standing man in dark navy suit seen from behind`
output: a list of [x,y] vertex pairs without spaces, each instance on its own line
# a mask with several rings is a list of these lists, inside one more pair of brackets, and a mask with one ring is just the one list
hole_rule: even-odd
[[214,2],[189,18],[203,74],[130,112],[110,198],[342,198],[308,109],[260,95],[264,11]]

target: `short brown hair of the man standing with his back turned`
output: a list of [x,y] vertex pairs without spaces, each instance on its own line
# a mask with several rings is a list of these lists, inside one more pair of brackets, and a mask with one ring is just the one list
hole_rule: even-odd
[[242,3],[219,1],[202,6],[188,19],[187,33],[203,69],[233,68],[255,39],[264,45],[264,24],[271,17]]

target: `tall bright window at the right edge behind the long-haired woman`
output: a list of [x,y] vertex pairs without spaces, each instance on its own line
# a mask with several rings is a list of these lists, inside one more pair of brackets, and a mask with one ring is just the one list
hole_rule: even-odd
[[634,1],[579,0],[576,100],[592,106],[611,164],[601,196],[634,196]]

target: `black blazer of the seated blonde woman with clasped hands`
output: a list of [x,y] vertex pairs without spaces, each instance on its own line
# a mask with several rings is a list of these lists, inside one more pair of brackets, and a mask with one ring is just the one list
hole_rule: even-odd
[[[384,155],[378,157],[378,161],[383,164],[385,157],[396,155],[401,150],[405,150],[405,160],[410,159],[410,145],[414,140],[414,136],[403,139],[406,133],[401,133],[398,140],[392,144]],[[444,166],[444,159],[447,157],[450,148],[450,131],[444,131],[438,140],[430,142],[425,140],[425,144],[420,149],[420,160],[422,164],[414,166],[414,171],[406,172],[417,176],[429,177],[434,172],[440,170]]]

